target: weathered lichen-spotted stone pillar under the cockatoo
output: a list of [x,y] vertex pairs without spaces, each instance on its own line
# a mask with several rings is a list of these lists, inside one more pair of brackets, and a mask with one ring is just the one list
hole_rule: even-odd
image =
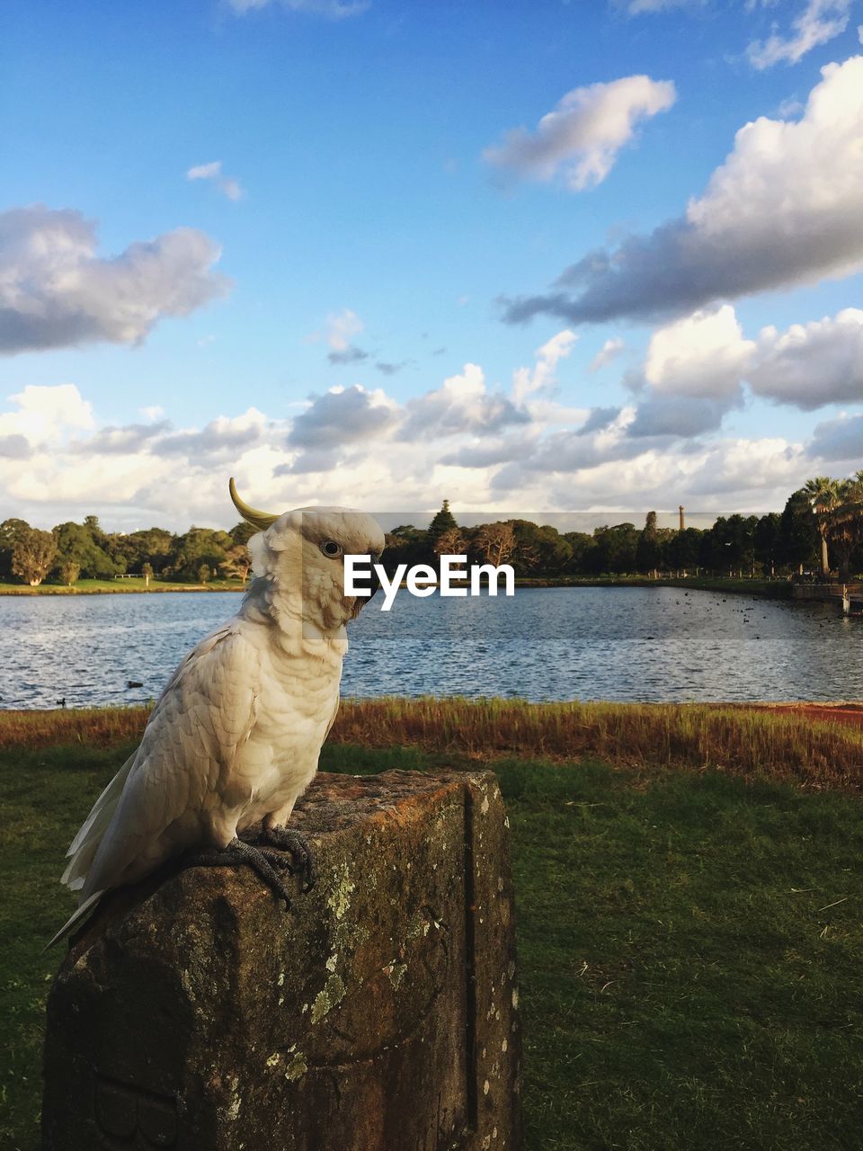
[[48,999],[44,1151],[521,1146],[507,822],[495,777],[319,775],[320,878],[119,892]]

